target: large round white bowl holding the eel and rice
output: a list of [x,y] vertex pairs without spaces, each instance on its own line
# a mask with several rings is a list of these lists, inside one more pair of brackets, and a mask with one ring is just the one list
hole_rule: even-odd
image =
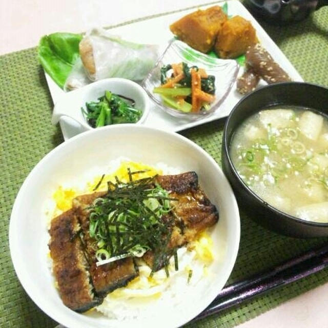
[[[211,229],[214,260],[208,275],[181,288],[170,302],[156,301],[130,320],[109,319],[99,313],[76,313],[61,301],[49,267],[49,217],[46,205],[58,186],[80,186],[108,170],[109,162],[129,157],[150,166],[163,163],[180,172],[195,171],[199,185],[219,211]],[[86,178],[87,177],[87,178]],[[150,328],[185,324],[216,297],[233,269],[240,238],[237,202],[217,162],[201,147],[173,132],[135,124],[106,126],[63,142],[28,175],[16,197],[10,218],[10,254],[18,279],[46,314],[68,328]],[[181,269],[183,270],[183,269]],[[155,320],[155,321],[154,321]]]

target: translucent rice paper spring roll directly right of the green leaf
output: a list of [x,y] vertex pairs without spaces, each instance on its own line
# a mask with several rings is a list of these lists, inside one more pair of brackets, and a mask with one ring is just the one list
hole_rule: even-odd
[[123,77],[144,79],[158,58],[158,47],[122,40],[104,29],[92,29],[79,43],[79,53],[90,80]]

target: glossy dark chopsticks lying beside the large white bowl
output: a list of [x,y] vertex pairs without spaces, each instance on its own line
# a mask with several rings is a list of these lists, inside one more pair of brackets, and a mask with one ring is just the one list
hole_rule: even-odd
[[326,267],[328,267],[328,244],[303,253],[250,279],[227,286],[193,321],[229,309],[254,296],[307,277]]

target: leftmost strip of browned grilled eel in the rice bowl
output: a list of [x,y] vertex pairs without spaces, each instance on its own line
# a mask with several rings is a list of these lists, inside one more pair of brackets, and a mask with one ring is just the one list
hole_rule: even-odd
[[102,299],[93,293],[79,230],[74,209],[57,216],[51,221],[49,249],[61,300],[68,308],[84,312]]

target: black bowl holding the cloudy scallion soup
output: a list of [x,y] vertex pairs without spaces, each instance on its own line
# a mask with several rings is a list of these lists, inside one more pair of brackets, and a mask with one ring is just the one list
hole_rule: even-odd
[[278,105],[310,109],[328,118],[328,89],[309,83],[288,82],[268,85],[245,95],[233,108],[224,126],[223,172],[232,185],[240,209],[261,226],[292,237],[328,236],[328,223],[296,218],[263,201],[243,182],[232,163],[230,147],[236,129],[249,116]]

